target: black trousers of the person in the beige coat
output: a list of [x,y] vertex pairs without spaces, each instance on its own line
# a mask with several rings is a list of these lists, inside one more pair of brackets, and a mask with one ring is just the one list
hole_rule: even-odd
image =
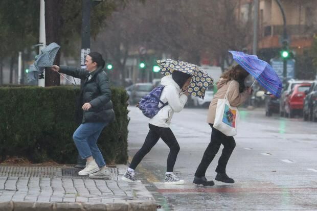
[[224,135],[219,130],[213,127],[213,124],[209,124],[212,128],[210,143],[203,153],[202,159],[196,170],[195,176],[202,177],[205,176],[206,170],[209,167],[211,161],[214,159],[215,155],[219,151],[220,145],[223,145],[223,150],[221,156],[218,160],[218,166],[216,168],[217,173],[225,173],[225,168],[227,167],[228,160],[236,147],[236,142],[233,136]]

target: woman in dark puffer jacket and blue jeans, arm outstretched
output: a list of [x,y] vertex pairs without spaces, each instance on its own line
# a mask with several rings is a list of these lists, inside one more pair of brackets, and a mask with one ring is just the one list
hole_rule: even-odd
[[115,119],[110,84],[103,71],[105,61],[101,54],[92,52],[86,56],[85,65],[86,69],[53,65],[52,70],[85,80],[80,94],[82,123],[73,135],[79,155],[86,159],[86,167],[78,174],[110,179],[110,170],[97,146],[101,131]]

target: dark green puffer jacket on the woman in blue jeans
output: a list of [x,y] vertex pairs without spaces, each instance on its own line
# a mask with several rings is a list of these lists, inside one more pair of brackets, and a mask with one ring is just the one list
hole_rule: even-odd
[[89,74],[86,69],[60,65],[59,72],[85,80],[80,92],[80,106],[90,103],[92,107],[83,111],[82,123],[114,121],[115,111],[112,109],[111,89],[107,74],[102,67],[98,67]]

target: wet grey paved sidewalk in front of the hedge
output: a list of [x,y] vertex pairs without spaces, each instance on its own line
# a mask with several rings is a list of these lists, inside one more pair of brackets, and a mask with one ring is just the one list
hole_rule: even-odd
[[98,180],[71,166],[0,165],[0,211],[156,210],[142,183],[121,180],[126,168],[112,166],[111,180]]

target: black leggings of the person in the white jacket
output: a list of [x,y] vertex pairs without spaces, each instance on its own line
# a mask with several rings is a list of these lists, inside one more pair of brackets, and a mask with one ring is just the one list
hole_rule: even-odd
[[163,142],[170,148],[170,153],[167,157],[167,172],[173,172],[173,168],[176,162],[177,154],[179,152],[179,145],[170,128],[157,127],[149,124],[149,133],[145,138],[145,142],[141,149],[134,155],[130,169],[135,169],[143,159],[143,157],[149,153],[154,147],[157,141],[162,138]]

